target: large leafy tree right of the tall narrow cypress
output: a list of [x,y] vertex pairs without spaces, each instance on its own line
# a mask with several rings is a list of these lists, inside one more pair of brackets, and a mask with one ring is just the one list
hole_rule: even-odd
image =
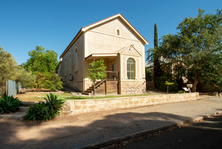
[[222,11],[185,18],[176,35],[163,36],[161,53],[172,63],[185,67],[196,91],[198,82],[222,84]]

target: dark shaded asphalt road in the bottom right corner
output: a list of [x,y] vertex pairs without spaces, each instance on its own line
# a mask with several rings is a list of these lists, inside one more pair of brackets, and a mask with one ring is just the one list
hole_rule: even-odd
[[127,144],[118,149],[221,149],[222,116]]

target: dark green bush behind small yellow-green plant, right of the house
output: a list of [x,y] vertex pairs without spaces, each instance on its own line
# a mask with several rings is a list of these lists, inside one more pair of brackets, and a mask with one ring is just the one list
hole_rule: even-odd
[[159,78],[159,86],[158,89],[160,91],[167,91],[167,85],[165,84],[165,82],[172,82],[172,85],[169,85],[169,92],[178,92],[178,84],[175,80],[172,79],[173,76],[170,73],[164,73],[160,78]]

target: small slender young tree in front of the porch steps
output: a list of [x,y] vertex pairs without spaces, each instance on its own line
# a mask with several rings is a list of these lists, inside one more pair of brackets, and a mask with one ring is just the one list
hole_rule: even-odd
[[[95,87],[96,80],[103,80],[106,77],[106,66],[104,66],[103,59],[99,61],[93,61],[89,65],[91,68],[88,69],[88,77],[93,82]],[[93,92],[93,94],[95,94],[95,92]]]

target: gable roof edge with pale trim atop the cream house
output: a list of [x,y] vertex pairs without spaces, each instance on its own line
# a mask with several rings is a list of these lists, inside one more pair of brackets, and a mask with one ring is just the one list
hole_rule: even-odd
[[96,23],[93,23],[93,24],[90,24],[88,26],[85,26],[85,27],[82,27],[79,32],[76,34],[76,36],[73,38],[73,40],[70,42],[70,44],[67,46],[67,48],[65,49],[65,51],[61,54],[60,58],[62,56],[65,55],[65,53],[69,50],[69,48],[74,44],[74,42],[80,37],[80,35],[82,33],[85,33],[87,31],[89,31],[90,29],[98,26],[98,25],[101,25],[103,23],[106,23],[112,19],[116,19],[116,18],[120,18],[124,23],[126,23],[126,25],[145,43],[145,44],[149,44],[149,42],[129,23],[129,21],[121,14],[121,13],[118,13],[116,15],[113,15],[111,17],[108,17],[106,19],[103,19],[101,21],[98,21]]

